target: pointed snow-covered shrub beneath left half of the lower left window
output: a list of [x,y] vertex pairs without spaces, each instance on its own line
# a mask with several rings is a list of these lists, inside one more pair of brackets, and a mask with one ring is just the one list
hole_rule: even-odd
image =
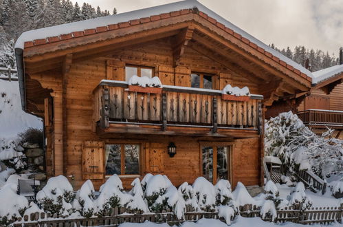
[[114,174],[100,186],[100,195],[96,199],[96,215],[109,215],[110,208],[126,206],[132,195],[123,191],[122,181]]

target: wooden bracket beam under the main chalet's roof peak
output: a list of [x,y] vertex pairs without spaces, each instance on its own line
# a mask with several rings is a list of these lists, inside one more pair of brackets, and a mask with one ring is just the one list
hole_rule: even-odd
[[188,44],[188,41],[192,39],[193,32],[194,28],[190,26],[188,28],[184,28],[179,32],[179,34],[170,39],[173,49],[173,67],[179,65],[180,58],[185,52],[185,47]]

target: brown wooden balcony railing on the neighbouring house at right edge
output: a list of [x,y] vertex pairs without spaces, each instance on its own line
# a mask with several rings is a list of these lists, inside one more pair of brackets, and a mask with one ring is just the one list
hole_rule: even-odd
[[305,125],[316,127],[343,127],[343,111],[308,109],[299,111],[297,115]]

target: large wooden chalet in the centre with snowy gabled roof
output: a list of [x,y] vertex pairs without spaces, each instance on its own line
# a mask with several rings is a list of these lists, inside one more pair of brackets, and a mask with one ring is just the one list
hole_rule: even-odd
[[[23,109],[45,120],[47,174],[76,188],[113,173],[126,187],[146,173],[262,185],[265,109],[312,76],[197,1],[25,32],[16,60]],[[135,74],[162,90],[132,91]],[[228,84],[250,99],[222,96]]]

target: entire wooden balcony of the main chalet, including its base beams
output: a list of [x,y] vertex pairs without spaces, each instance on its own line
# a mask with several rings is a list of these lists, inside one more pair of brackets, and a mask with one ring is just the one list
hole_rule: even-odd
[[124,81],[102,80],[93,90],[96,132],[258,137],[263,96],[224,100],[220,90],[164,85],[159,94],[130,91]]

